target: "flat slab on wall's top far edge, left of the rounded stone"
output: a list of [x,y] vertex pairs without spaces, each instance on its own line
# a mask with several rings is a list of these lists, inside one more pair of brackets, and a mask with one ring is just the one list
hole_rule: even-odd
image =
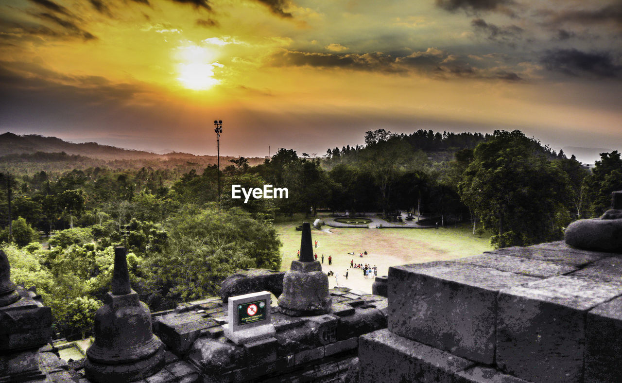
[[536,259],[537,261],[554,262],[558,264],[571,265],[574,267],[582,267],[587,265],[588,263],[598,261],[603,257],[611,256],[611,254],[606,253],[577,251],[576,249],[572,249],[572,251],[554,250],[538,246],[504,247],[503,249],[486,251],[485,254],[486,253]]

